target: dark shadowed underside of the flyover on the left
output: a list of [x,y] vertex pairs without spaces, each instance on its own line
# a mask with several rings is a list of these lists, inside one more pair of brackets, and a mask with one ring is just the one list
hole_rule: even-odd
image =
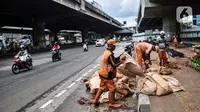
[[73,10],[51,0],[5,0],[0,9],[0,26],[32,27],[38,19],[48,29],[82,30],[109,32],[119,29],[82,12]]

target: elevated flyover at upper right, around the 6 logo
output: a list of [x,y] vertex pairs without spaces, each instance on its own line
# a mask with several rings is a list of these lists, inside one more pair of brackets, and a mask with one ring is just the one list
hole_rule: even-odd
[[139,30],[160,29],[167,36],[179,33],[176,21],[176,8],[179,6],[190,6],[194,15],[200,14],[198,0],[140,0],[137,21]]

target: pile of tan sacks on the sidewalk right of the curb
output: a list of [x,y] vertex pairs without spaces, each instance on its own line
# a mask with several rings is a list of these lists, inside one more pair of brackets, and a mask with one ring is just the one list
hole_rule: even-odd
[[137,92],[162,96],[185,90],[178,80],[168,76],[172,74],[172,71],[168,68],[152,67],[147,72],[145,78],[138,81]]

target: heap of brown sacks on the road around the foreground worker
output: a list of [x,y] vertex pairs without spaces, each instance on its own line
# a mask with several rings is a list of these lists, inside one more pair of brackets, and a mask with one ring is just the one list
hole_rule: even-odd
[[[137,64],[137,62],[126,52],[123,54],[126,56],[124,64],[117,68],[116,78],[114,82],[117,88],[116,99],[121,99],[129,92],[134,92],[136,87],[136,75],[144,77],[144,73]],[[88,81],[87,87],[90,88],[90,93],[95,94],[100,85],[100,78],[98,71],[96,71]],[[101,95],[100,102],[108,101],[108,92],[104,92]]]

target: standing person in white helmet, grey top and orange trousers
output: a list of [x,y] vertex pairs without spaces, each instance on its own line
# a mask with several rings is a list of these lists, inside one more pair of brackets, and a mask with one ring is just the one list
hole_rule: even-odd
[[160,66],[167,65],[167,41],[165,40],[165,32],[160,32],[160,38],[157,39],[157,45],[159,47],[159,59],[160,59]]

